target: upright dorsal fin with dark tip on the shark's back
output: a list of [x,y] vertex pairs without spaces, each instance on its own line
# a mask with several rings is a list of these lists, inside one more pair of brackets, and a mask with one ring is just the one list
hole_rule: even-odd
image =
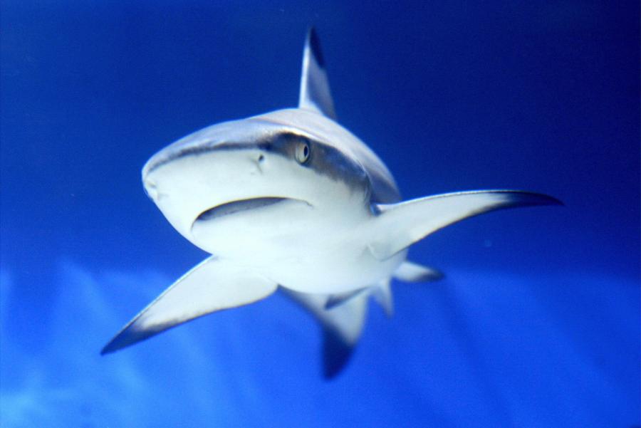
[[320,51],[318,35],[313,27],[309,28],[305,40],[298,108],[313,110],[328,118],[336,118],[329,80],[325,71],[325,60]]

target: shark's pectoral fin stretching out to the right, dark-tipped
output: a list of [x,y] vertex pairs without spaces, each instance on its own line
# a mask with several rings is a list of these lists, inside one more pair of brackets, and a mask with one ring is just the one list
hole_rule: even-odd
[[380,204],[375,206],[375,238],[369,248],[377,259],[385,260],[434,231],[471,216],[496,209],[560,204],[545,194],[515,190],[457,192]]

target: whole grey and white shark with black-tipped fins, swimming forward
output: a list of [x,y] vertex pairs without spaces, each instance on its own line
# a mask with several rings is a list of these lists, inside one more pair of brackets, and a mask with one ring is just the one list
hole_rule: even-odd
[[507,189],[403,201],[382,160],[337,122],[314,28],[304,44],[298,107],[187,135],[147,161],[142,183],[174,229],[210,255],[101,353],[281,289],[320,322],[328,378],[353,353],[369,302],[392,314],[392,278],[441,278],[407,260],[412,244],[486,212],[561,204]]

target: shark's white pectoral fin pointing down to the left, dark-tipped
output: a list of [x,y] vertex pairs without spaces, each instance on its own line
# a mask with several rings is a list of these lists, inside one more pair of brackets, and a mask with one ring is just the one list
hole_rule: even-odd
[[101,354],[113,353],[199,316],[259,301],[276,287],[262,276],[209,257],[136,315]]

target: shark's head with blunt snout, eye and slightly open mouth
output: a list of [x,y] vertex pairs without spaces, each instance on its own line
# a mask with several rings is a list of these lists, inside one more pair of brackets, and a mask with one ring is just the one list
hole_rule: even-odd
[[333,142],[343,133],[355,139],[301,109],[222,122],[157,152],[142,182],[172,226],[205,251],[273,244],[332,213],[368,209],[368,172],[350,147]]

